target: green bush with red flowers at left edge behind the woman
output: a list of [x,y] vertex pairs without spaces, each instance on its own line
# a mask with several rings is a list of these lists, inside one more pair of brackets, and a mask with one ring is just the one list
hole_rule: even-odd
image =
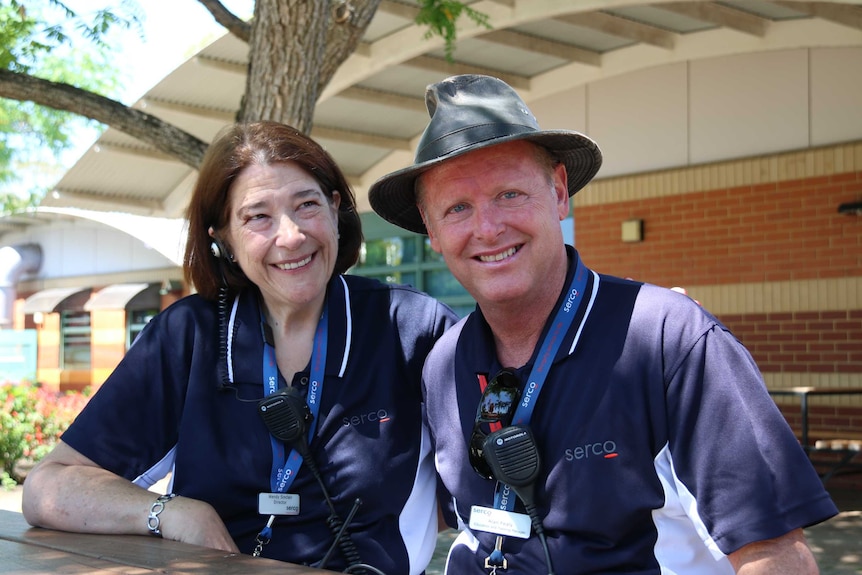
[[57,443],[90,399],[89,391],[58,392],[38,384],[0,386],[0,481],[4,487],[23,481],[19,462],[37,462]]

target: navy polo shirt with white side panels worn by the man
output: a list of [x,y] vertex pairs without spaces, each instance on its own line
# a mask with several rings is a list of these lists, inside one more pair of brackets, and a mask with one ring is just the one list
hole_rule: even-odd
[[[569,280],[576,257],[570,249]],[[751,356],[715,317],[665,288],[590,276],[530,424],[558,572],[732,573],[729,553],[837,512]],[[448,560],[458,575],[487,574],[496,539],[466,527],[495,490],[471,468],[468,440],[478,376],[501,367],[477,309],[423,373],[441,502],[464,528]],[[507,574],[545,572],[535,535],[506,537],[503,551]]]

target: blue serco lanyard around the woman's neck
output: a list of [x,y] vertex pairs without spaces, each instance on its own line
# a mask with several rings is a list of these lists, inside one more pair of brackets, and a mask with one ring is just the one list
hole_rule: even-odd
[[[317,415],[320,412],[320,397],[323,395],[323,378],[326,371],[326,345],[328,331],[328,313],[326,302],[323,304],[323,313],[317,322],[317,330],[314,333],[314,347],[311,352],[311,380],[308,382],[308,394],[306,401],[311,410],[312,420],[308,426],[308,442],[314,437],[317,426]],[[261,323],[264,319],[261,316]],[[275,361],[275,348],[264,338],[263,345],[263,393],[270,395],[278,391],[278,366]],[[270,435],[272,444],[272,471],[270,473],[270,486],[274,493],[285,493],[296,479],[299,467],[302,465],[302,456],[295,449],[285,459],[284,443]]]

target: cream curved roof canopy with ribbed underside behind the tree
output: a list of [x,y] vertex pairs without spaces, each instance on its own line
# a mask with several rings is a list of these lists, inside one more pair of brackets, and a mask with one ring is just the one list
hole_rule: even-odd
[[[377,177],[411,163],[427,121],[425,86],[452,74],[498,76],[529,103],[654,66],[801,47],[862,45],[859,1],[481,0],[493,29],[460,29],[454,62],[413,23],[415,0],[383,0],[359,49],[321,95],[312,136],[351,179],[360,211]],[[233,121],[247,46],[226,35],[135,104],[210,141]],[[600,174],[601,176],[601,174]],[[43,206],[180,217],[196,171],[108,129]]]

